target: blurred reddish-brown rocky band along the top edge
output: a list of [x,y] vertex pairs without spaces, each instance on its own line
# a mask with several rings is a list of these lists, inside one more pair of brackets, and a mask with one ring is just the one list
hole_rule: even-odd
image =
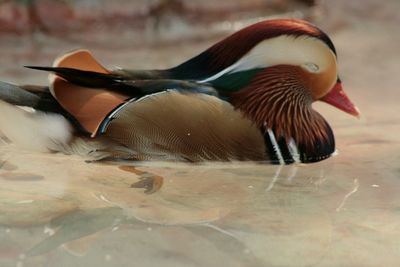
[[[64,32],[93,31],[96,29],[128,28],[145,31],[147,22],[157,31],[178,19],[188,25],[236,21],[257,18],[298,8],[307,8],[315,1],[310,0],[160,0],[156,3],[137,0],[115,1],[67,1],[25,0],[0,1],[0,33],[49,34]],[[172,23],[173,24],[173,23]],[[167,25],[168,26],[168,25]]]

